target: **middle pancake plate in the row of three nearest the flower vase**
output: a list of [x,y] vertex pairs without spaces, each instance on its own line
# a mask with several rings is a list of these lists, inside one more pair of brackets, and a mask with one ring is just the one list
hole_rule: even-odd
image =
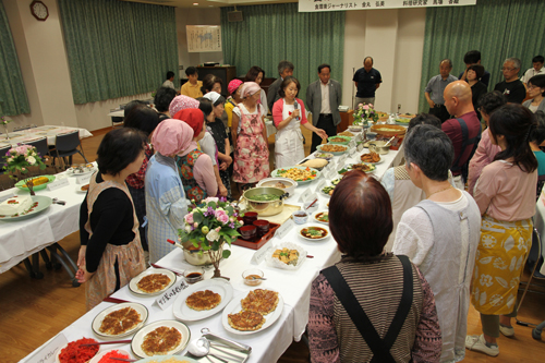
[[196,322],[223,310],[233,298],[231,283],[223,279],[210,279],[194,283],[177,298],[174,316],[182,322]]

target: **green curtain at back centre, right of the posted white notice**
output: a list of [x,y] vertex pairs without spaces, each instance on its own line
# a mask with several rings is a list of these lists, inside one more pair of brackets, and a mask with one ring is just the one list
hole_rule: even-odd
[[223,61],[245,75],[253,65],[267,77],[278,77],[278,62],[289,60],[293,75],[301,83],[299,98],[305,99],[306,87],[318,80],[317,68],[331,65],[331,78],[342,80],[344,53],[344,12],[300,13],[298,3],[238,7],[244,21],[229,22],[221,8]]

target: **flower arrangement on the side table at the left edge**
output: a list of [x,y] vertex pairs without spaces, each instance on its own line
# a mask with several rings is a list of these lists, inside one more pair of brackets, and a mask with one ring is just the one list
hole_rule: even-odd
[[[17,146],[10,148],[3,158],[7,170],[5,173],[9,173],[10,178],[15,181],[28,174],[29,167],[38,167],[40,170],[46,169],[46,164],[41,160],[36,147],[31,145],[17,144]],[[28,174],[28,177],[31,177],[31,174]],[[34,195],[34,183],[32,182],[32,178],[28,178],[25,184],[31,195]]]

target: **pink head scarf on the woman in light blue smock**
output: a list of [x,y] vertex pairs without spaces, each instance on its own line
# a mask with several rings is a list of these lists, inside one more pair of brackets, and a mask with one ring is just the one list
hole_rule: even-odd
[[179,154],[193,140],[193,129],[180,120],[168,119],[159,123],[152,136],[154,149],[164,156]]

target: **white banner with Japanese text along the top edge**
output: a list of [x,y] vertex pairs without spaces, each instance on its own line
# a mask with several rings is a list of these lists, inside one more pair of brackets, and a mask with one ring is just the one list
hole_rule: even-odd
[[299,0],[299,12],[475,5],[476,0]]

